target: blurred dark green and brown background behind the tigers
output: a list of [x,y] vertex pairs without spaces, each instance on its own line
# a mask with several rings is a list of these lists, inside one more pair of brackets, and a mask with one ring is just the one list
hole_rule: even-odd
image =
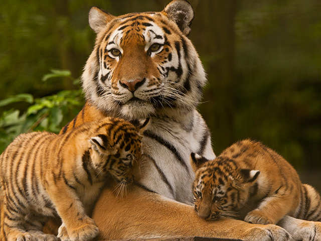
[[[42,77],[50,69],[81,75],[95,39],[88,26],[90,7],[121,15],[161,11],[168,2],[3,1],[0,99],[79,88],[70,77],[46,82]],[[190,2],[195,10],[190,38],[209,80],[199,109],[212,132],[215,153],[240,139],[262,141],[321,190],[321,2]],[[22,113],[28,106],[17,102],[0,111],[18,108]],[[65,114],[59,125],[75,111]]]

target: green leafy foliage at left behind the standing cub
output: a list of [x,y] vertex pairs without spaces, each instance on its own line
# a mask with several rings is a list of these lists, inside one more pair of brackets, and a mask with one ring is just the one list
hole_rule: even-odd
[[[71,77],[70,71],[52,70],[44,75],[43,80],[68,77],[72,82],[79,83]],[[1,106],[26,102],[28,108],[20,111],[16,108],[6,110],[0,116],[0,152],[21,133],[32,131],[48,131],[59,133],[61,128],[76,115],[84,104],[82,90],[62,90],[56,94],[35,98],[31,94],[18,94],[0,100]]]

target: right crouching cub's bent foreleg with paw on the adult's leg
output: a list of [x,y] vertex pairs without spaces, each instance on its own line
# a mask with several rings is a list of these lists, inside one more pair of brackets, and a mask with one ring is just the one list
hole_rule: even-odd
[[257,224],[276,224],[291,210],[292,196],[271,196],[265,198],[258,208],[250,211],[244,221]]

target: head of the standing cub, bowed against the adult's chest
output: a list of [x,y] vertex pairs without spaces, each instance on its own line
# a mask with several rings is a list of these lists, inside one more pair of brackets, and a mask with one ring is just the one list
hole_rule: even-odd
[[148,123],[149,118],[135,127],[123,119],[107,117],[94,127],[89,154],[98,177],[110,174],[117,182],[127,184],[139,175],[141,134]]

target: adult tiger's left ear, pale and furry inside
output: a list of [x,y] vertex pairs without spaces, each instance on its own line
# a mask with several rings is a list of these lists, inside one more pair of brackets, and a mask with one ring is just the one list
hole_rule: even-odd
[[115,16],[108,14],[101,9],[92,7],[89,11],[89,26],[98,34],[108,22],[113,20]]

